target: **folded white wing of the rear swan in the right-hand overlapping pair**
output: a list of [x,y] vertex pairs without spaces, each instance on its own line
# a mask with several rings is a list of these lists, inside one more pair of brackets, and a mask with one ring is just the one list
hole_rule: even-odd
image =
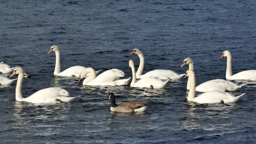
[[224,92],[230,87],[238,87],[236,84],[225,81],[224,79],[213,79],[211,81],[204,82],[196,87],[198,92],[210,92],[210,91],[221,91]]

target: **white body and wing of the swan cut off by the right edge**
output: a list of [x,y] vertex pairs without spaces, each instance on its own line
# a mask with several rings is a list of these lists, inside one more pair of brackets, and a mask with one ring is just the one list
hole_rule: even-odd
[[231,79],[245,79],[245,80],[253,80],[256,78],[256,70],[245,70],[231,76]]

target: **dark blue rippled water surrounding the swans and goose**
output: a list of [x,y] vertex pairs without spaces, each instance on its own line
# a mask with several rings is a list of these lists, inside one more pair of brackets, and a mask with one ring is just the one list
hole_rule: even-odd
[[[1,143],[255,143],[255,85],[233,104],[198,105],[185,100],[186,82],[163,90],[129,86],[82,86],[76,78],[53,76],[59,46],[61,70],[82,65],[118,68],[131,76],[128,61],[139,64],[134,47],[153,69],[180,68],[183,59],[195,63],[197,84],[225,78],[224,50],[233,55],[233,73],[256,69],[255,1],[1,1],[0,61],[21,66],[25,97],[51,86],[71,96],[71,103],[34,105],[15,102],[15,85],[0,89]],[[241,83],[238,83],[241,84]],[[107,94],[117,104],[146,101],[142,114],[110,112]]]

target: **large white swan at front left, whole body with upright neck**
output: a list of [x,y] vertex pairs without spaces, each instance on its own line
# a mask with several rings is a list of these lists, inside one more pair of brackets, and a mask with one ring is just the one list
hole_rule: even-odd
[[70,102],[77,97],[68,97],[69,93],[60,87],[50,87],[35,92],[27,98],[23,98],[21,93],[21,86],[23,80],[23,70],[21,67],[15,68],[10,77],[18,74],[18,82],[15,90],[15,99],[17,101],[26,101],[31,103],[57,103]]

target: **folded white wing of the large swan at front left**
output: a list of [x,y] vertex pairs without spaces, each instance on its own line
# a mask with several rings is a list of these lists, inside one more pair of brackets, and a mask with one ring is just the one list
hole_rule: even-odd
[[60,87],[50,87],[35,92],[28,98],[25,98],[25,101],[31,103],[55,103],[56,98],[60,96],[67,97],[69,96],[69,93],[68,91],[61,89]]

